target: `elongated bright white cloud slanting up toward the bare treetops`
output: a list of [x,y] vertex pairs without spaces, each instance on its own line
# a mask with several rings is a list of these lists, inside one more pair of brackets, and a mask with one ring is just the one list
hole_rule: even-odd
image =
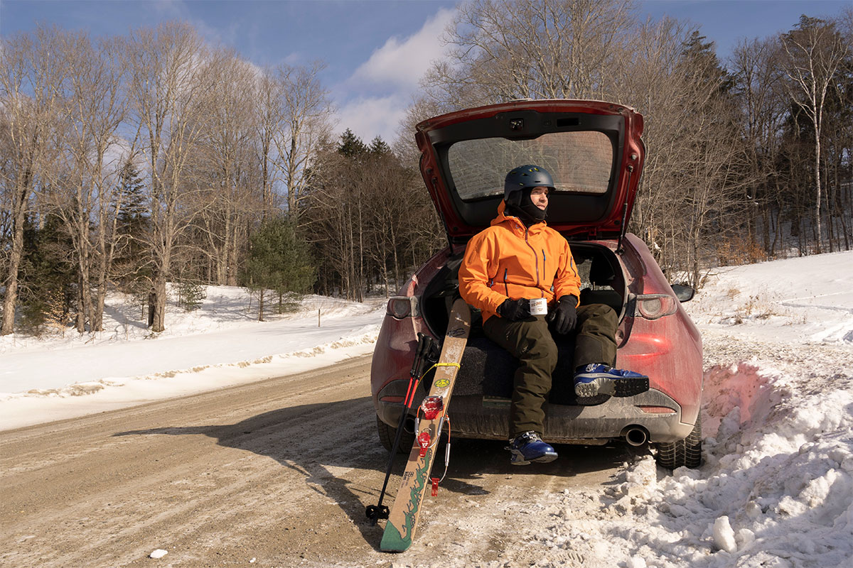
[[440,36],[454,14],[455,10],[439,9],[415,34],[404,39],[389,37],[358,66],[348,83],[365,90],[374,90],[377,84],[380,88],[417,89],[432,61],[442,55]]

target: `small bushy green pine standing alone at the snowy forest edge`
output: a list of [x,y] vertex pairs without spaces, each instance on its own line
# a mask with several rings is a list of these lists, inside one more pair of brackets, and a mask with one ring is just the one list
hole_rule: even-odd
[[275,290],[281,301],[286,295],[310,290],[316,268],[308,244],[299,238],[293,221],[275,218],[264,221],[250,238],[249,257],[243,273],[246,287],[258,294],[258,321],[264,321],[264,294]]

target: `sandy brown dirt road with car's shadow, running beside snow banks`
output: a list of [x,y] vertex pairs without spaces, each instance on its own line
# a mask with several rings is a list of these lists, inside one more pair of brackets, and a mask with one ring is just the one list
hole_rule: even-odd
[[489,564],[523,538],[525,508],[606,485],[627,458],[558,446],[556,462],[511,468],[504,444],[461,440],[413,547],[381,553],[381,523],[364,517],[387,459],[369,364],[0,433],[0,565]]

